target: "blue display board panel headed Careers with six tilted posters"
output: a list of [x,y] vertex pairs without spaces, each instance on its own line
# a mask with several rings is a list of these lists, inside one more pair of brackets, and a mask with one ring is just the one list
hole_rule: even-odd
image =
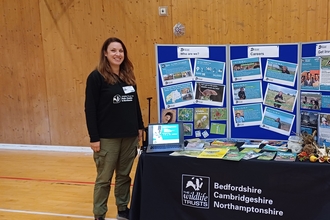
[[229,47],[231,138],[287,140],[296,132],[299,44]]

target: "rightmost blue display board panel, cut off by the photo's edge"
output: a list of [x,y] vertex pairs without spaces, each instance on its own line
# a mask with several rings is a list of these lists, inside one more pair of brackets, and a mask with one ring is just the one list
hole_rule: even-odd
[[330,42],[301,45],[301,133],[330,146]]

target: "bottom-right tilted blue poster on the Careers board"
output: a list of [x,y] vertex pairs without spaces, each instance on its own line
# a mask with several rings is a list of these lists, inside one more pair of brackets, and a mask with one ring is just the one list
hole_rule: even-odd
[[260,127],[289,136],[295,115],[266,107]]

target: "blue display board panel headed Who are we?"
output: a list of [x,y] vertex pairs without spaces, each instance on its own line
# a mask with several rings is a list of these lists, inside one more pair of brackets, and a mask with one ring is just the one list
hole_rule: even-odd
[[183,122],[185,139],[225,138],[227,46],[156,45],[158,121]]

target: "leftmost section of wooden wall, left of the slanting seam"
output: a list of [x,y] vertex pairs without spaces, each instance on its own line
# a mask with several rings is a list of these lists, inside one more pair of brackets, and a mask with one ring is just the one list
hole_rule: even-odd
[[38,1],[0,8],[0,142],[50,144]]

